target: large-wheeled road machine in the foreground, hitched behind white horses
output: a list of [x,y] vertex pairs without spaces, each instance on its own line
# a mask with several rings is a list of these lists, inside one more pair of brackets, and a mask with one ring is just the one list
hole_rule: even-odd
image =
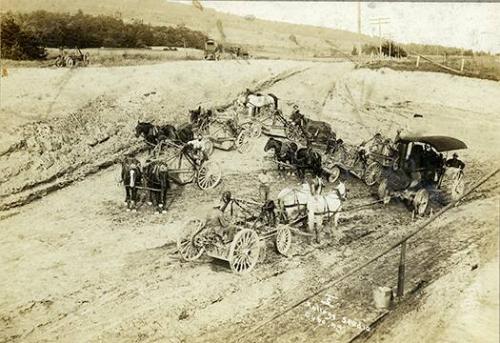
[[[278,253],[287,254],[292,231],[289,226],[276,223],[273,201],[237,199],[230,192],[224,192],[221,200],[215,223],[193,219],[183,228],[177,248],[184,261],[194,261],[206,253],[229,262],[233,272],[246,273],[264,259],[266,241],[273,240]],[[224,213],[227,207],[229,215]]]

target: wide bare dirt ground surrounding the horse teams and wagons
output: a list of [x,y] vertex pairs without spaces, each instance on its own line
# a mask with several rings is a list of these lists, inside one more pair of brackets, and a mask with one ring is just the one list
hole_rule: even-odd
[[[188,216],[212,207],[225,189],[256,197],[265,138],[246,154],[214,154],[223,167],[216,189],[175,188],[167,214],[155,215],[147,206],[131,213],[122,204],[115,162],[143,149],[134,136],[137,120],[178,123],[199,104],[231,111],[238,94],[253,88],[278,95],[285,114],[298,104],[354,144],[376,132],[393,136],[398,128],[456,136],[469,147],[460,152],[468,185],[500,157],[499,83],[442,73],[355,69],[348,62],[172,61],[13,67],[1,87],[0,342],[349,341],[358,328],[318,325],[304,306],[259,324],[423,221],[412,220],[402,203],[376,205],[346,211],[320,245],[295,237],[288,257],[269,246],[249,275],[235,275],[209,258],[183,263],[175,241]],[[273,177],[271,197],[297,185],[293,177]],[[344,179],[346,209],[374,199],[373,189]],[[409,242],[407,290],[464,261],[482,265],[496,258],[499,185],[497,174]],[[368,325],[382,314],[373,306],[373,287],[395,286],[398,259],[395,250],[311,302],[333,294],[338,318]]]

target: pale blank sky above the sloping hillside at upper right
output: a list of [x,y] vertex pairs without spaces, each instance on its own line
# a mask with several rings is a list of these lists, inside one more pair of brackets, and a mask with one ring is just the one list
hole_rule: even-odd
[[[191,4],[192,1],[176,2]],[[357,32],[358,2],[200,1],[221,12]],[[388,18],[382,36],[402,43],[500,53],[500,3],[361,2],[361,32],[378,36],[373,19]]]

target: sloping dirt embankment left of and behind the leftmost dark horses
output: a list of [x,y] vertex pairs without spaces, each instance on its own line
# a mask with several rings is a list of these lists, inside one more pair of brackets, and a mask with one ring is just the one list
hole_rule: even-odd
[[[209,68],[179,63],[173,64],[173,68],[158,66],[156,75],[151,66],[114,68],[114,73],[104,71],[104,75],[99,75],[99,69],[69,70],[70,74],[63,75],[66,79],[60,83],[54,81],[59,79],[59,70],[33,70],[52,79],[41,87],[47,92],[45,96],[37,95],[38,88],[25,90],[32,93],[25,94],[23,104],[18,97],[10,99],[9,94],[31,76],[24,75],[28,79],[22,80],[22,75],[12,71],[12,79],[3,82],[2,92],[2,117],[7,118],[4,130],[10,135],[2,142],[0,151],[0,209],[25,204],[116,163],[126,153],[139,152],[144,148],[134,136],[139,119],[183,122],[188,119],[188,108],[199,103],[227,107],[245,87],[269,87],[308,68],[293,62],[252,63],[205,64]],[[225,68],[222,64],[226,64]],[[163,68],[166,72],[161,76]],[[24,70],[19,72],[23,74]],[[186,74],[199,79],[187,78]],[[103,87],[101,78],[109,87],[100,89],[104,94],[97,95],[99,90],[86,91],[94,84]],[[109,78],[114,78],[116,84]],[[169,81],[164,82],[163,78]],[[54,88],[48,89],[51,83]],[[87,85],[82,88],[82,83]],[[27,116],[42,120],[18,127],[16,124],[30,121]]]

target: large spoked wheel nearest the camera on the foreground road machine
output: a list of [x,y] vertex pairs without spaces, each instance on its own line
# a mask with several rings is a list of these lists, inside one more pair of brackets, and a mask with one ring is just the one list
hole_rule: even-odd
[[261,244],[254,230],[243,229],[234,236],[229,248],[229,265],[236,273],[251,271],[259,260]]

